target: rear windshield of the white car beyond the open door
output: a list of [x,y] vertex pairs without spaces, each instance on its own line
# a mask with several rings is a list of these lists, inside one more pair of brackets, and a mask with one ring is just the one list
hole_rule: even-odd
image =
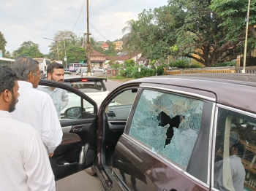
[[75,87],[83,93],[96,93],[96,92],[105,92],[107,88],[105,87],[102,81],[86,81],[81,80],[78,82],[64,82],[67,85]]

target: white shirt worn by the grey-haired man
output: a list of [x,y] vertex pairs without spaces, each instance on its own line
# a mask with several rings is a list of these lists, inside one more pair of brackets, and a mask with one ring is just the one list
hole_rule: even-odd
[[15,111],[15,120],[28,123],[37,130],[48,153],[53,153],[62,141],[62,129],[50,95],[33,88],[30,82],[18,81],[20,96]]

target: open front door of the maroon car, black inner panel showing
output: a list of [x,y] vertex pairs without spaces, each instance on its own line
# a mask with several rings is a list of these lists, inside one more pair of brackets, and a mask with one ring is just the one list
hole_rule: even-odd
[[50,165],[57,181],[89,168],[94,162],[97,104],[80,90],[64,83],[41,79],[39,85],[39,90],[42,91],[44,88],[55,87],[54,90],[66,93],[65,101],[61,102],[59,117],[63,138],[53,157],[50,157]]

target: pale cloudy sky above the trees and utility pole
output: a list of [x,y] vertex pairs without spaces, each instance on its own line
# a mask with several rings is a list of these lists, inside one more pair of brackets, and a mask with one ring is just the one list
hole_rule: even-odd
[[[43,54],[58,31],[87,32],[86,0],[0,0],[0,31],[12,52],[31,40]],[[167,5],[167,0],[89,0],[89,30],[97,41],[114,41],[124,35],[127,21],[138,20],[143,9]],[[48,39],[43,39],[48,38]]]

